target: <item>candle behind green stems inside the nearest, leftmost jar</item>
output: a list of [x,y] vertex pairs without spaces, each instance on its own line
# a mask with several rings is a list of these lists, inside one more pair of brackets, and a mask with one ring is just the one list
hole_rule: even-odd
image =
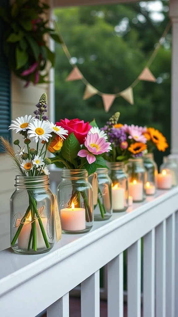
[[[48,237],[48,234],[47,234],[48,219],[41,218],[41,222],[43,224],[46,236]],[[40,228],[38,219],[35,220],[35,223],[36,223],[36,247],[37,247],[37,249],[44,248],[44,247],[46,247],[46,244],[45,244],[42,232],[41,232],[41,228]],[[27,249],[28,248],[30,231],[31,231],[31,219],[29,217],[29,218],[26,218],[26,220],[23,224],[23,227],[20,231],[20,234],[18,236],[19,249]],[[32,241],[30,243],[30,248],[32,248]]]

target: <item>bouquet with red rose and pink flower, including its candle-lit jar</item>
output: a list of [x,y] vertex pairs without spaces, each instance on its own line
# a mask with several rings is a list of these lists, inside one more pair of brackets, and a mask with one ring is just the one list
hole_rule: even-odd
[[[62,168],[62,181],[58,186],[62,229],[67,228],[67,233],[86,232],[91,229],[93,221],[92,186],[88,186],[86,181],[89,176],[93,176],[97,168],[107,168],[103,155],[111,150],[111,143],[106,141],[105,133],[95,126],[95,121],[89,124],[78,118],[61,119],[56,122],[56,128],[59,126],[68,131],[68,136],[64,140],[56,136],[48,150],[54,154],[51,162]],[[95,177],[92,179],[92,184],[94,183],[97,186]],[[85,210],[86,221],[83,221],[83,225],[76,225],[75,229],[78,229],[74,230],[74,225],[69,226],[68,223],[72,215],[73,218],[77,217],[77,212],[70,212],[69,216],[67,212],[80,209],[83,212]]]

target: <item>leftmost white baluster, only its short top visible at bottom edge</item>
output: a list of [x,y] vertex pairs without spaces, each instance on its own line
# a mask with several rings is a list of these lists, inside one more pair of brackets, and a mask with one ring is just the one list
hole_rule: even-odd
[[47,308],[47,317],[69,317],[69,293]]

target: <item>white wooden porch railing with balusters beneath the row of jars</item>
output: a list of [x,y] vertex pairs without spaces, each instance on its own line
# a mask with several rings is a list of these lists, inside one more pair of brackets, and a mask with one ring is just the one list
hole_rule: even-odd
[[[42,255],[0,252],[0,315],[69,317],[69,291],[81,283],[81,316],[99,317],[99,269],[107,265],[108,317],[123,317],[123,251],[127,249],[128,317],[178,316],[178,187],[157,191],[127,212],[63,234]],[[141,238],[143,237],[143,262]]]

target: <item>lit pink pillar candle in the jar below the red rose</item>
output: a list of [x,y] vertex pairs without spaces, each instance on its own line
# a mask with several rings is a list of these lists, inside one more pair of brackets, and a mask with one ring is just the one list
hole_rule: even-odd
[[75,208],[73,203],[71,208],[60,210],[60,220],[62,230],[78,231],[86,229],[85,209]]

